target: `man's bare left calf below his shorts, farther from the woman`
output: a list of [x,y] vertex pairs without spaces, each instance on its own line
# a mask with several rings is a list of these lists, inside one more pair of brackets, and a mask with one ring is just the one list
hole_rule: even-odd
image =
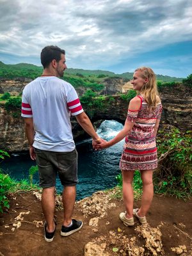
[[47,221],[47,232],[53,232],[54,223],[54,190],[55,187],[44,188],[42,192],[42,209]]

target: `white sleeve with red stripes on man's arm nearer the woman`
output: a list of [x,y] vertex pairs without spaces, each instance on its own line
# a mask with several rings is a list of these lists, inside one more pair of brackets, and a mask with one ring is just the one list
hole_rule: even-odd
[[76,90],[73,87],[72,90],[70,90],[70,92],[68,92],[67,94],[67,106],[72,116],[79,115],[83,112],[81,102],[79,100]]

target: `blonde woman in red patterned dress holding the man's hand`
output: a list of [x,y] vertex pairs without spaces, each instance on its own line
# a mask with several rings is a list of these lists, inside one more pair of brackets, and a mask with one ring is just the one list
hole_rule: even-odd
[[[131,80],[137,96],[129,103],[124,128],[111,141],[103,141],[96,148],[108,148],[125,138],[120,159],[123,177],[125,212],[120,219],[127,226],[134,225],[133,215],[140,223],[146,223],[146,214],[152,202],[154,186],[152,175],[157,168],[156,134],[161,118],[162,105],[156,85],[156,76],[151,68],[141,67]],[[132,179],[135,170],[140,170],[143,195],[140,209],[133,209]]]

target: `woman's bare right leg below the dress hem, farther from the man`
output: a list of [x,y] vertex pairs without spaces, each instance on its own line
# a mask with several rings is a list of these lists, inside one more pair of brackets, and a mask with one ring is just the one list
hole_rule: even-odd
[[154,196],[153,170],[142,170],[141,179],[143,181],[143,195],[138,216],[144,217],[147,214]]

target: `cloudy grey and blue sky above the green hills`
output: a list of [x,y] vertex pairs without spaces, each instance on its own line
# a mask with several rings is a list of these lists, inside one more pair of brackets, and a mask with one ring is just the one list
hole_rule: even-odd
[[192,73],[191,0],[0,0],[0,61],[40,66],[46,45],[68,68]]

